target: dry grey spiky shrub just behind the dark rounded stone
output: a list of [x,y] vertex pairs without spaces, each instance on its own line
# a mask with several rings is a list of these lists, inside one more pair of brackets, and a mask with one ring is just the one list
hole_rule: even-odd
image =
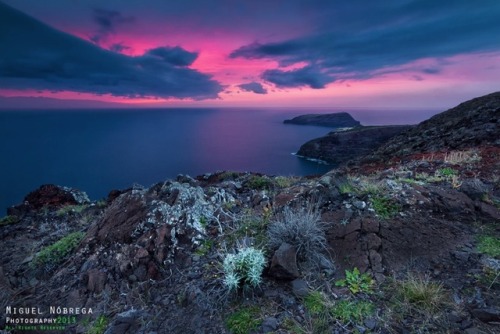
[[268,242],[272,250],[282,243],[288,243],[297,250],[302,261],[330,261],[325,255],[326,236],[321,226],[321,215],[315,208],[291,209],[286,207],[283,214],[268,228]]

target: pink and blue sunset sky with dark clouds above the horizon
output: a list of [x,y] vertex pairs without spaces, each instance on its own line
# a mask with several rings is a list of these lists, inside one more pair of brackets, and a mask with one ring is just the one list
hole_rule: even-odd
[[0,0],[0,97],[450,108],[499,90],[499,18],[498,0]]

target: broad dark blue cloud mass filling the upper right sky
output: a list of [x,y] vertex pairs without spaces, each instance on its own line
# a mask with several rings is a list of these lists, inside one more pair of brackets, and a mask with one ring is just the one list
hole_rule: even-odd
[[[349,2],[349,6],[337,1],[324,4],[323,11],[329,18],[325,16],[314,32],[279,42],[255,42],[234,50],[230,57],[268,58],[280,66],[309,64],[293,71],[268,70],[262,78],[281,87],[322,88],[336,79],[393,72],[390,67],[422,58],[500,50],[497,0],[457,0],[452,4],[357,0]],[[354,9],[359,10],[357,16]],[[440,67],[423,70],[428,74],[440,71]]]

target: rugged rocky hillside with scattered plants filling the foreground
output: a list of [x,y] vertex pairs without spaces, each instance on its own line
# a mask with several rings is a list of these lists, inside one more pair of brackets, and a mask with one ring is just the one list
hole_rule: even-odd
[[[440,132],[459,145],[419,151],[417,127],[399,156],[318,177],[181,175],[99,202],[43,186],[0,221],[0,328],[52,306],[54,333],[497,333],[500,143],[467,131],[498,139],[474,112],[495,99],[431,122],[469,117]],[[228,254],[248,248],[262,276],[231,289]]]

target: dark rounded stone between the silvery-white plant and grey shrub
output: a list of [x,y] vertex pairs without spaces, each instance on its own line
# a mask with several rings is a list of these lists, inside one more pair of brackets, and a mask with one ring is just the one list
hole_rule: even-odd
[[294,279],[300,276],[297,267],[297,250],[286,242],[274,252],[269,275],[278,279]]

